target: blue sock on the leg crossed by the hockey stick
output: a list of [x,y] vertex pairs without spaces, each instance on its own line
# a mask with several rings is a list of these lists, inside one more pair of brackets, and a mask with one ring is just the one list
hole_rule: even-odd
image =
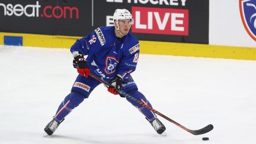
[[[139,91],[133,90],[130,92],[127,92],[127,94],[132,95],[134,98],[136,98],[137,100],[142,101],[143,103],[149,105],[149,107],[152,107],[151,103],[149,103],[148,100],[146,100],[146,97]],[[130,103],[132,103],[135,107],[138,108],[138,110],[149,120],[149,121],[153,121],[156,119],[156,115],[149,110],[148,108],[143,107],[142,105],[136,103],[133,100],[130,100],[129,98],[126,98],[127,101],[129,101]]]

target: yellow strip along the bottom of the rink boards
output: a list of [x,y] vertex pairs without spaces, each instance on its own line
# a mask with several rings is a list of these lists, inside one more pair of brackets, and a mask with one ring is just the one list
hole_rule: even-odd
[[[0,45],[20,45],[69,49],[81,37],[40,34],[0,33]],[[9,40],[13,44],[9,43]],[[140,53],[153,55],[213,57],[256,60],[253,47],[215,46],[209,44],[172,43],[140,40]]]

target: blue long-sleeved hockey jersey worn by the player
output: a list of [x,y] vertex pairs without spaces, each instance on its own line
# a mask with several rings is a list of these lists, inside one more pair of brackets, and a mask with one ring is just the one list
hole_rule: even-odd
[[104,79],[119,74],[123,78],[136,69],[139,58],[139,41],[131,33],[122,39],[116,37],[114,26],[99,27],[86,37],[76,40],[71,53],[87,55],[92,73]]

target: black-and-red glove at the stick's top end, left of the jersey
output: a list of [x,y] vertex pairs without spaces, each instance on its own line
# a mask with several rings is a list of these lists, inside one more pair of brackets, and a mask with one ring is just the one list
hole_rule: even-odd
[[80,75],[83,75],[85,76],[85,78],[88,78],[90,70],[84,56],[81,56],[81,55],[76,56],[73,59],[73,67],[77,69]]

